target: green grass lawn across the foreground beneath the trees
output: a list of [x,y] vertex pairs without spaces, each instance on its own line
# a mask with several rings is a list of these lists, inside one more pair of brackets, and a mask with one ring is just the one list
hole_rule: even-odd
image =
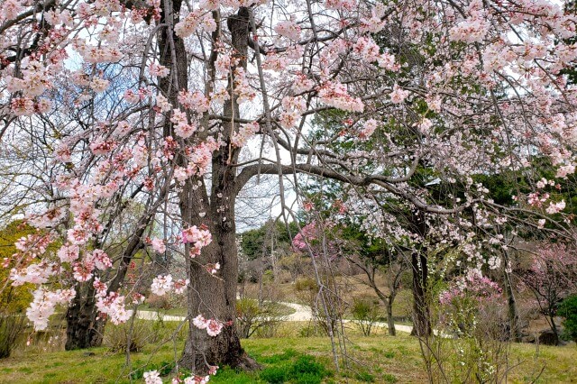
[[[334,370],[330,341],[325,337],[285,337],[243,340],[245,350],[263,367],[256,372],[237,372],[223,367],[211,383],[420,383],[426,382],[425,367],[417,339],[407,334],[390,337],[377,334],[362,337],[352,332],[347,353],[360,364],[348,370]],[[175,355],[176,349],[176,355]],[[128,383],[142,382],[142,373],[160,370],[169,373],[179,358],[182,342],[167,343],[155,351],[151,345],[126,356],[105,348],[87,351],[27,353],[0,361],[1,383]],[[545,366],[536,382],[574,382],[577,378],[577,348],[514,344],[509,382],[531,382]],[[518,365],[517,365],[518,364]],[[169,382],[169,375],[164,377]]]

